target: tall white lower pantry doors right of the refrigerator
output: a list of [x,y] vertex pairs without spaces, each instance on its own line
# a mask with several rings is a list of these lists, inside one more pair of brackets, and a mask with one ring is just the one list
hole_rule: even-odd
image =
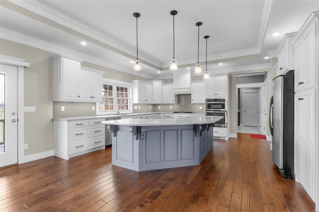
[[295,94],[295,178],[316,197],[316,89]]

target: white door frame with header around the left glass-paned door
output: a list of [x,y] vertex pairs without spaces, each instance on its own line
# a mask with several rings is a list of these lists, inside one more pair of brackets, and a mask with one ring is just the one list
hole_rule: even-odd
[[24,162],[24,68],[30,67],[24,59],[0,55],[0,64],[17,67],[18,164]]

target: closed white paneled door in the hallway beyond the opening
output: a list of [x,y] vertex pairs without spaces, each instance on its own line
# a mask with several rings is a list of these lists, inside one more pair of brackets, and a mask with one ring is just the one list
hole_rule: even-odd
[[244,93],[244,126],[259,127],[259,92]]

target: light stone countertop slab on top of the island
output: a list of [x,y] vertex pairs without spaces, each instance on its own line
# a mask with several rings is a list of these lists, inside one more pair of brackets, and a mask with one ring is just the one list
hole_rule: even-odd
[[135,119],[126,118],[112,121],[102,121],[104,124],[126,125],[126,126],[163,126],[163,125],[187,125],[187,124],[208,124],[216,123],[222,116],[190,115],[180,118],[160,118],[160,119]]

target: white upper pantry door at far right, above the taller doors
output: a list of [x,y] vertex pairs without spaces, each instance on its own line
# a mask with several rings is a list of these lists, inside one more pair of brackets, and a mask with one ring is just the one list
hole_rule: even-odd
[[313,24],[306,33],[303,40],[303,55],[302,55],[302,86],[303,90],[314,88],[316,82],[316,27]]

